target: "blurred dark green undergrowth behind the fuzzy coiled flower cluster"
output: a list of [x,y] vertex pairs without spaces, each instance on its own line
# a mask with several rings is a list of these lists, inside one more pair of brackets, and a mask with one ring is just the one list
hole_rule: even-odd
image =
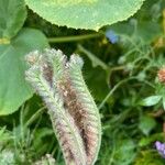
[[[53,25],[31,10],[24,28],[41,30],[52,47],[84,58],[84,76],[102,120],[98,165],[165,164],[154,145],[165,142],[165,85],[157,79],[165,65],[164,0],[146,0],[135,15],[98,33]],[[34,164],[46,154],[64,164],[36,95],[0,117],[0,165]]]

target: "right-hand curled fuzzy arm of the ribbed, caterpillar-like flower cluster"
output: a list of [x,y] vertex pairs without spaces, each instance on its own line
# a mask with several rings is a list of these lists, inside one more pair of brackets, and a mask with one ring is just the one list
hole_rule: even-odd
[[77,102],[81,106],[81,131],[86,146],[87,161],[91,165],[96,162],[101,142],[101,122],[98,108],[85,84],[81,74],[82,61],[72,55],[69,75],[73,89],[76,91]]

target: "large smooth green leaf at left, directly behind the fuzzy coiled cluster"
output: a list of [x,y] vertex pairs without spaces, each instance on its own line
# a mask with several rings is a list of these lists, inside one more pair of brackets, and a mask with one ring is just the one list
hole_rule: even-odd
[[37,30],[24,29],[9,45],[0,45],[0,116],[9,114],[33,91],[24,79],[24,55],[47,47],[46,37]]

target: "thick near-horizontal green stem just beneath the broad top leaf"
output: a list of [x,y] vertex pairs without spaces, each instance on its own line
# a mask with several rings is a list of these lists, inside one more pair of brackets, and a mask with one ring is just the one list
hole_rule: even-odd
[[85,34],[85,35],[73,35],[73,36],[61,36],[61,37],[50,37],[50,43],[65,43],[65,42],[77,42],[81,40],[89,40],[95,37],[103,36],[100,33],[94,33],[94,34]]

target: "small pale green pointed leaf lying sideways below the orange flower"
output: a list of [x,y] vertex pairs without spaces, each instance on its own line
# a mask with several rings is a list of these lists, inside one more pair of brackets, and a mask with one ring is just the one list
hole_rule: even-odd
[[145,99],[143,99],[140,105],[141,106],[146,106],[146,107],[150,107],[150,106],[154,106],[156,103],[158,103],[158,101],[162,99],[162,96],[151,96],[151,97],[147,97]]

